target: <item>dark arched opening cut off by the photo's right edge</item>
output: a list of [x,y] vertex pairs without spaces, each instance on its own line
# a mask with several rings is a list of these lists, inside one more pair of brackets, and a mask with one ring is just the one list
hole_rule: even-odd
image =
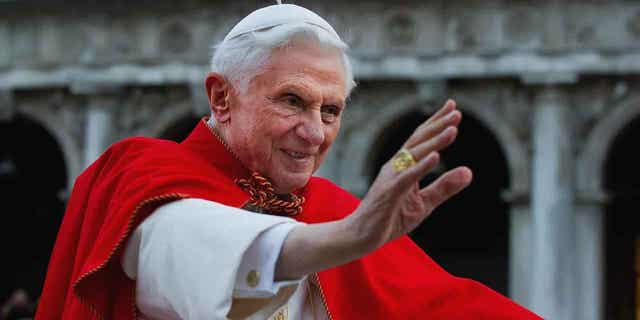
[[603,188],[605,208],[605,310],[607,318],[632,319],[638,308],[637,279],[640,274],[640,116],[629,119],[617,132],[605,160]]

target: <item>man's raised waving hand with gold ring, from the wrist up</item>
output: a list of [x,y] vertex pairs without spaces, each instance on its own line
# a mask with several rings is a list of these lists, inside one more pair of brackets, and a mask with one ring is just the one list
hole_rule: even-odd
[[382,167],[351,216],[351,225],[357,226],[367,243],[378,247],[410,232],[436,207],[469,185],[472,173],[466,167],[452,169],[422,189],[418,184],[438,164],[438,151],[455,140],[461,119],[455,102],[447,101],[402,146],[401,150],[408,152],[415,164],[405,168],[396,154]]

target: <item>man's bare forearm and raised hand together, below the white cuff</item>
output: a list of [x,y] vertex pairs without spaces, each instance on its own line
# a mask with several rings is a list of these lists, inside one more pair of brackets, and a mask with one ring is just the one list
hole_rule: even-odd
[[353,214],[342,220],[296,226],[282,247],[275,278],[296,279],[358,259],[413,230],[468,186],[472,175],[466,167],[450,170],[422,189],[418,185],[440,161],[438,151],[455,140],[461,119],[455,102],[447,101],[402,146],[413,161],[408,166],[399,163],[398,154],[390,159]]

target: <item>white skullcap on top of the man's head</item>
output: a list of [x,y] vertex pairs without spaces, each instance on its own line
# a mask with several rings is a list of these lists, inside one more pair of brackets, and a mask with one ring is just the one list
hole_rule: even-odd
[[229,31],[223,42],[252,31],[299,23],[320,27],[340,40],[340,36],[333,27],[315,12],[294,4],[276,4],[258,9],[244,17]]

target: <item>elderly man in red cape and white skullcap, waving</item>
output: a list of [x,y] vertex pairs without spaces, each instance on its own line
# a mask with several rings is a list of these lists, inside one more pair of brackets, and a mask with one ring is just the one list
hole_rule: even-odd
[[212,58],[210,119],[181,144],[119,142],[78,178],[37,318],[537,318],[406,236],[471,182],[418,187],[455,140],[453,101],[362,201],[312,177],[354,87],[345,49],[298,6],[240,21]]

